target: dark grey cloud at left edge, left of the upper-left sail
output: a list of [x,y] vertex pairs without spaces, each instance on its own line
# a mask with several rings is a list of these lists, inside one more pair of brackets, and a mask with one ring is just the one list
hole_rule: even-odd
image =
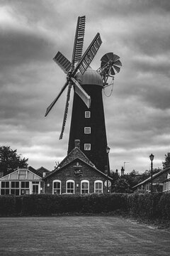
[[9,29],[0,35],[0,68],[48,60],[52,47],[49,38],[40,34]]

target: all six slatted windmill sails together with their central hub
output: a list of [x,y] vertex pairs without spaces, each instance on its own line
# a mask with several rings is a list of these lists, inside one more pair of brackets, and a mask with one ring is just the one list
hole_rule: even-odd
[[[67,90],[67,101],[65,105],[64,110],[64,118],[62,123],[62,132],[60,134],[60,139],[62,139],[64,127],[67,119],[67,112],[69,107],[69,97],[72,85],[74,85],[75,92],[77,92],[77,95],[81,98],[81,100],[84,101],[86,106],[89,108],[91,105],[91,97],[84,91],[84,89],[79,85],[79,82],[75,79],[75,75],[77,73],[77,70],[80,70],[81,74],[83,75],[86,71],[86,68],[89,67],[91,61],[94,59],[94,56],[96,55],[98,48],[101,46],[101,36],[99,33],[96,34],[94,40],[91,42],[89,48],[87,48],[84,55],[81,56],[82,50],[83,50],[83,44],[84,44],[84,31],[85,31],[85,16],[79,16],[77,19],[77,29],[75,33],[74,38],[74,47],[72,52],[72,62],[70,62],[60,51],[55,55],[55,62],[62,68],[64,73],[67,74],[67,82],[65,82],[64,86],[62,87],[62,90],[60,91],[59,95],[53,100],[53,102],[50,104],[49,107],[47,107],[47,111],[45,113],[45,117],[50,112],[52,107],[55,105],[57,100],[62,95],[62,92],[66,89]],[[77,63],[75,67],[75,63]]]

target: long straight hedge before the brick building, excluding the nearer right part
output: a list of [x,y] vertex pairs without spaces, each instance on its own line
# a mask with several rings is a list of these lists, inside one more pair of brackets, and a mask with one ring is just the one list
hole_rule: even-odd
[[0,215],[108,213],[127,210],[124,194],[0,196]]

